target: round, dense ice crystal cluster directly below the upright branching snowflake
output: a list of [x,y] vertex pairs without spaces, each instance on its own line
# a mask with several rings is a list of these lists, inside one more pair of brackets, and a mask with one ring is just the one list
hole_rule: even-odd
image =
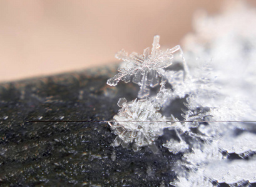
[[163,134],[163,128],[170,127],[170,123],[165,122],[165,117],[158,112],[159,105],[149,99],[127,102],[125,98],[120,98],[118,105],[122,108],[114,117],[116,122],[109,123],[118,135],[115,145],[121,138],[123,146],[133,143],[133,150],[137,151],[141,146],[152,145]]

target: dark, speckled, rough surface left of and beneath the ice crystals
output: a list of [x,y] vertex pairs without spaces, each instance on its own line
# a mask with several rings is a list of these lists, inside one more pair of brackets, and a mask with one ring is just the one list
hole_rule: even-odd
[[[172,155],[161,146],[113,147],[106,122],[29,122],[111,120],[120,97],[136,98],[138,86],[106,80],[116,67],[84,70],[0,84],[1,186],[170,186]],[[170,138],[170,137],[169,137]]]

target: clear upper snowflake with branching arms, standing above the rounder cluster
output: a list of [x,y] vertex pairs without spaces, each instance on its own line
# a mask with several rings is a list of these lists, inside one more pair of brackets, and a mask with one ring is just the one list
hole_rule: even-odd
[[130,82],[131,75],[134,75],[133,82],[140,85],[140,92],[138,98],[145,98],[150,94],[148,87],[156,87],[159,84],[160,78],[170,79],[170,82],[174,82],[175,79],[183,77],[181,72],[173,72],[166,70],[173,64],[174,53],[180,51],[182,55],[184,70],[187,71],[187,65],[183,58],[183,52],[180,46],[175,46],[172,49],[166,51],[160,50],[160,36],[156,35],[153,40],[152,49],[146,48],[143,55],[136,52],[128,55],[125,50],[121,50],[116,54],[117,59],[121,59],[126,64],[118,69],[119,73],[115,77],[108,79],[107,84],[115,86],[120,80],[124,82]]

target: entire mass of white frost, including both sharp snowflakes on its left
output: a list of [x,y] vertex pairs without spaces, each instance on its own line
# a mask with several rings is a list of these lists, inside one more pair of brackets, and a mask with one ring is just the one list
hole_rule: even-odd
[[[151,54],[149,49],[143,55],[118,54],[125,70],[108,80],[116,85],[133,75],[140,85],[138,98],[146,97],[120,100],[121,109],[110,123],[118,135],[113,145],[132,143],[135,151],[148,145],[157,153],[153,141],[163,128],[173,130],[176,136],[163,146],[183,154],[175,186],[245,186],[256,181],[256,123],[245,122],[256,119],[256,11],[233,4],[218,16],[201,12],[195,32],[184,40],[186,61],[180,47],[161,52],[155,36]],[[178,61],[173,60],[176,49],[182,55]],[[155,95],[150,94],[151,72],[158,83],[151,86],[159,90]],[[163,115],[174,100],[186,101],[183,118]],[[230,154],[247,159],[234,160]]]

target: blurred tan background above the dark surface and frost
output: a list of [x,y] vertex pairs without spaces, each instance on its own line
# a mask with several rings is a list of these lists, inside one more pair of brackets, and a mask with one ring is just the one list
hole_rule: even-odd
[[116,62],[120,49],[143,52],[153,36],[173,47],[192,31],[195,11],[222,1],[0,0],[0,81]]

